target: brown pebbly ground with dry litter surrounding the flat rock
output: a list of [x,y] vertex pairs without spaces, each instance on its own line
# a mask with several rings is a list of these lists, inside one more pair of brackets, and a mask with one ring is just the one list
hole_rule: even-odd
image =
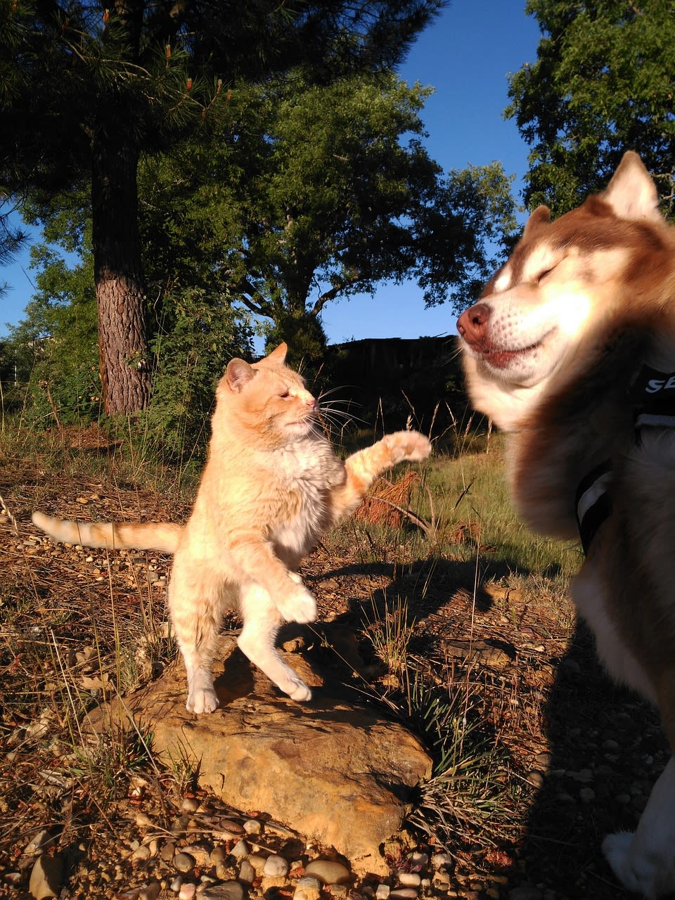
[[412,555],[374,546],[364,526],[344,527],[308,560],[322,619],[348,626],[365,661],[353,693],[404,718],[396,672],[367,638],[367,620],[404,599],[415,620],[406,664],[466,690],[504,788],[482,816],[467,800],[464,817],[462,796],[427,798],[383,846],[388,874],[369,876],[265,809],[225,805],[181,761],[154,765],[140,739],[125,735],[95,761],[83,751],[76,712],[166,666],[170,561],[50,545],[31,509],[180,518],[186,506],[12,458],[0,464],[0,496],[0,896],[626,896],[600,842],[635,827],[666,742],[653,711],[605,679],[554,580],[479,558],[474,590],[475,563],[422,554],[419,542]]

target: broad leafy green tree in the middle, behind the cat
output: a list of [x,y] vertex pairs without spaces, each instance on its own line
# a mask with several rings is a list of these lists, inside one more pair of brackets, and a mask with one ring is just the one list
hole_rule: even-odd
[[382,282],[465,300],[516,228],[510,179],[496,163],[443,175],[421,143],[428,94],[391,71],[238,85],[229,122],[143,167],[154,292],[218,284],[296,362],[322,356],[329,302]]

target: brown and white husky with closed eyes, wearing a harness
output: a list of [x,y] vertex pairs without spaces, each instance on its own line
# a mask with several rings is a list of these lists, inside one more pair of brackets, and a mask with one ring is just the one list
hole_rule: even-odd
[[[675,751],[675,229],[657,200],[628,152],[578,209],[540,206],[457,329],[473,405],[509,432],[519,513],[581,536],[572,597]],[[628,890],[675,891],[675,757],[603,849]]]

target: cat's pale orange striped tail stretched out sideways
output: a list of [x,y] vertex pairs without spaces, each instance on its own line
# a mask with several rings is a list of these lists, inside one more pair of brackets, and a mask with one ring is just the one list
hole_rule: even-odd
[[66,518],[32,514],[32,524],[46,531],[54,541],[103,547],[107,550],[157,550],[173,554],[183,526],[173,522],[71,522]]

